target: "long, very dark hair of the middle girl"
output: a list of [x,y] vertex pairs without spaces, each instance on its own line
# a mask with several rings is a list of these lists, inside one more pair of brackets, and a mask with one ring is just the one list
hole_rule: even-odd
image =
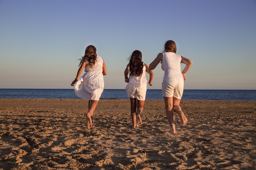
[[142,62],[142,53],[139,50],[135,50],[132,52],[132,55],[130,55],[128,60],[130,60],[130,75],[140,76],[142,74],[142,69],[144,67],[144,64]]

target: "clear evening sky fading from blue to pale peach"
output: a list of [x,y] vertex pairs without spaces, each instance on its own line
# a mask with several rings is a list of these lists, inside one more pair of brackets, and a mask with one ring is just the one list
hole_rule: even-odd
[[256,90],[255,30],[256,0],[0,0],[0,88],[72,88],[92,44],[105,88],[124,89],[132,51],[149,65],[174,40],[193,61],[185,89]]

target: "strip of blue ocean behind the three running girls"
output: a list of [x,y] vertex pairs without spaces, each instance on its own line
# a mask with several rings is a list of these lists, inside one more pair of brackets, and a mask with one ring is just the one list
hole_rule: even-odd
[[[4,99],[79,99],[73,89],[0,89]],[[101,99],[129,99],[125,89],[104,89]],[[162,90],[148,89],[146,100],[163,99]],[[256,90],[184,90],[182,100],[256,101]]]

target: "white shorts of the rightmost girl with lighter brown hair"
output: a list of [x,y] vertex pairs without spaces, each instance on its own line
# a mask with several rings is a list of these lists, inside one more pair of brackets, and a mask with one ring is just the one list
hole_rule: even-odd
[[181,99],[184,90],[184,80],[167,79],[162,83],[163,97],[175,97]]

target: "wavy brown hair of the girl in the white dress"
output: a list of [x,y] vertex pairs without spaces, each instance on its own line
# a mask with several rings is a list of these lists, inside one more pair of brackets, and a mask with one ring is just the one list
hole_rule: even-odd
[[89,67],[93,67],[95,62],[97,61],[97,53],[96,53],[96,48],[93,45],[89,45],[85,49],[85,55],[82,57],[79,66],[82,64],[82,61],[87,60],[89,62]]

